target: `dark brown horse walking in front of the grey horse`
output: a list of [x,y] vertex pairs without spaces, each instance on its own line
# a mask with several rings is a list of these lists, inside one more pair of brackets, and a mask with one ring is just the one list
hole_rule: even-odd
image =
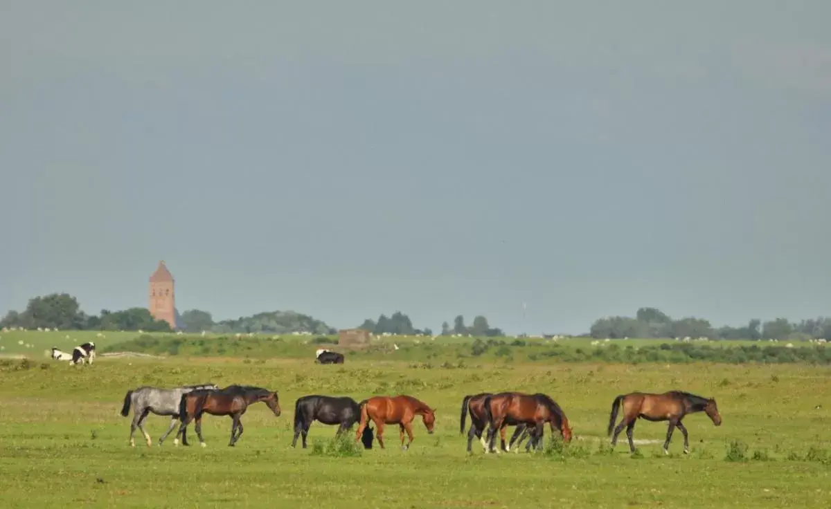
[[[274,414],[279,417],[281,414],[277,391],[270,391],[262,387],[252,385],[229,385],[224,389],[214,391],[197,390],[188,394],[182,394],[179,400],[179,431],[176,432],[175,444],[178,444],[179,435],[184,436],[185,429],[191,420],[196,421],[196,436],[199,437],[199,445],[206,447],[202,438],[202,414],[228,415],[233,419],[231,425],[231,439],[229,447],[234,447],[239,437],[243,435],[243,423],[240,420],[248,409],[248,405],[262,401]],[[187,445],[186,443],[184,445]]]

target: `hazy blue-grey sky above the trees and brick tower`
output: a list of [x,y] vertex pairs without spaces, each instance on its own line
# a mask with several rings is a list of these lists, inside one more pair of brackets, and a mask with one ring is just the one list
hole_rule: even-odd
[[827,0],[2,2],[0,311],[146,306],[164,259],[179,311],[218,320],[831,314],[829,19]]

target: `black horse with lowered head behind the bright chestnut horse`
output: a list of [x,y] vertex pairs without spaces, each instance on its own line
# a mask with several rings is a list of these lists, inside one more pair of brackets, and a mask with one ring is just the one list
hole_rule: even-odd
[[[303,448],[306,448],[309,427],[316,420],[323,424],[337,424],[337,432],[335,433],[337,438],[361,420],[361,407],[354,399],[347,396],[311,394],[297,398],[294,403],[294,439],[292,440],[292,447],[297,445],[297,437],[302,433]],[[364,448],[372,448],[372,438],[372,429],[367,427],[361,436]]]

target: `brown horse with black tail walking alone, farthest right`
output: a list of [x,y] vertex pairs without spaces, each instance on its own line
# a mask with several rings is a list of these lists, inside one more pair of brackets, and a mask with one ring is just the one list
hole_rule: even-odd
[[[615,420],[617,420],[617,411],[623,409],[623,418],[621,423],[615,428]],[[684,433],[684,453],[690,452],[690,441],[686,433],[684,424],[681,419],[686,414],[694,414],[696,412],[704,412],[713,421],[716,426],[721,425],[721,416],[719,414],[719,407],[715,404],[715,399],[707,399],[696,394],[681,392],[680,390],[671,390],[664,394],[640,393],[634,392],[629,394],[622,394],[617,396],[612,401],[612,413],[609,414],[609,428],[607,434],[612,434],[612,447],[617,443],[617,435],[623,431],[626,426],[626,436],[629,438],[629,449],[632,453],[635,452],[635,443],[632,442],[632,430],[635,429],[635,422],[638,418],[645,418],[647,421],[653,423],[661,421],[669,421],[669,428],[666,429],[666,442],[664,442],[664,453],[669,454],[670,438],[672,438],[672,431],[675,428]]]

